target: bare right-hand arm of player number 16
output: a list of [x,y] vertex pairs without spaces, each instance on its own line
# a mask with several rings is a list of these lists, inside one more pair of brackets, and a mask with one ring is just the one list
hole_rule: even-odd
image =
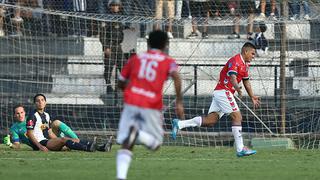
[[184,110],[183,110],[183,102],[182,102],[182,94],[181,94],[181,79],[179,73],[174,71],[171,74],[174,87],[176,90],[176,113],[180,119],[184,119]]

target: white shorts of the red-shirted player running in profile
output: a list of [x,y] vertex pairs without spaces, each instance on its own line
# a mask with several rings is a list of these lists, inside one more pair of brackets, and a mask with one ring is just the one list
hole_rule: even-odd
[[238,104],[233,94],[227,90],[215,90],[212,96],[212,102],[208,114],[218,112],[219,116],[239,111]]

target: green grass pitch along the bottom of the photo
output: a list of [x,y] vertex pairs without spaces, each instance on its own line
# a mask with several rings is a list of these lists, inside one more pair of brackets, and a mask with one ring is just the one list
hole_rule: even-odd
[[[0,145],[1,180],[114,180],[112,152],[34,152]],[[319,180],[319,150],[258,149],[237,158],[232,148],[163,146],[134,149],[129,180]]]

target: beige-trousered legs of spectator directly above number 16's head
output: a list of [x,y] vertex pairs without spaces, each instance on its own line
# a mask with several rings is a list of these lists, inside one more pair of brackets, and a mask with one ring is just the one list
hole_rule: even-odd
[[[173,38],[172,35],[172,22],[174,19],[174,0],[166,0],[166,4],[167,4],[167,15],[168,15],[168,27],[167,27],[167,33],[168,33],[168,37],[169,39]],[[156,23],[154,26],[154,30],[160,30],[161,29],[161,19],[163,18],[163,10],[164,10],[164,5],[165,4],[165,0],[157,0],[156,1],[156,12],[155,12],[155,18],[156,18]]]

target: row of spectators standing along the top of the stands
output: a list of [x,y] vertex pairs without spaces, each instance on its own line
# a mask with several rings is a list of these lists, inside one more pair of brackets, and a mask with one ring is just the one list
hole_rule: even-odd
[[[253,34],[253,22],[276,21],[280,6],[280,1],[276,0],[1,0],[1,3],[31,7],[33,11],[0,6],[0,36],[98,36],[100,25],[95,20],[44,14],[42,10],[109,14],[109,5],[118,3],[121,6],[119,14],[167,19],[166,25],[155,21],[153,29],[165,27],[169,38],[174,38],[174,21],[190,18],[192,32],[188,38],[209,38],[208,20],[220,21],[230,16],[234,20],[234,30],[229,38],[240,37],[239,20],[242,17],[248,19],[249,38]],[[310,20],[308,0],[289,0],[288,6],[290,20]]]

